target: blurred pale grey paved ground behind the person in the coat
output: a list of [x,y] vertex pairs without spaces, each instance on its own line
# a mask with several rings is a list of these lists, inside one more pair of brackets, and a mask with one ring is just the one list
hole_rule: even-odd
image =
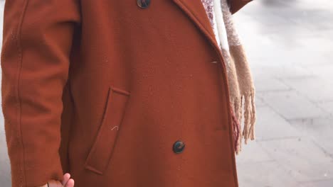
[[[332,187],[333,1],[254,0],[234,18],[258,108],[256,140],[236,157],[240,187]],[[10,181],[1,111],[0,186]]]

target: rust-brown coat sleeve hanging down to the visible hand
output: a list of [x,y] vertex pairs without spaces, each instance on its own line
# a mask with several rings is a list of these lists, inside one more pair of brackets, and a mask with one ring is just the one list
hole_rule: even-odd
[[80,25],[78,1],[5,2],[1,108],[14,187],[63,178],[60,115],[73,33]]

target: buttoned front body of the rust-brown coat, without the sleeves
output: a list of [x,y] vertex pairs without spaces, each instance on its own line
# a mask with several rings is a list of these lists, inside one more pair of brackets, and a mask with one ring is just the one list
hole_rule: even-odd
[[75,185],[237,186],[226,72],[201,1],[81,8],[63,115]]

